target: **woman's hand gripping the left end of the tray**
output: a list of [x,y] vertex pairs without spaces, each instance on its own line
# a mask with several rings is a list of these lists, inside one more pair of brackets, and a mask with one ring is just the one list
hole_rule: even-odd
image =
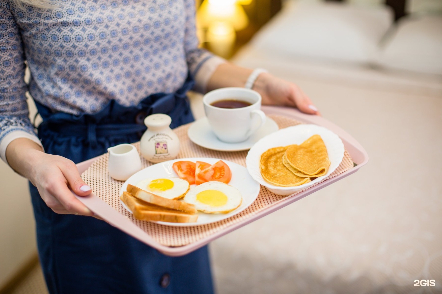
[[37,187],[43,201],[54,212],[94,215],[70,191],[80,196],[91,194],[91,188],[80,178],[72,160],[46,154],[39,145],[25,138],[15,139],[8,145],[6,158],[15,171]]

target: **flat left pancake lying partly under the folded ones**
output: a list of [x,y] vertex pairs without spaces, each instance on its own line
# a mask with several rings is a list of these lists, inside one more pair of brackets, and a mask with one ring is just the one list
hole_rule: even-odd
[[291,187],[310,182],[310,178],[299,177],[282,164],[282,156],[287,147],[274,147],[261,155],[261,175],[267,182],[276,186]]

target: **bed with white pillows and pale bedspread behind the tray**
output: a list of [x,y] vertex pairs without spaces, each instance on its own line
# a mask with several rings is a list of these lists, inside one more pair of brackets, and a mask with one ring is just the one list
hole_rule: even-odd
[[441,16],[388,2],[286,1],[234,57],[301,86],[370,160],[212,242],[218,294],[442,293]]

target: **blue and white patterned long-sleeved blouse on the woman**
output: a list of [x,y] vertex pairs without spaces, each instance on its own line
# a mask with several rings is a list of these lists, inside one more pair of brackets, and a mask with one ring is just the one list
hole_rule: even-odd
[[[53,3],[53,9],[20,8],[0,0],[3,160],[15,138],[39,143],[28,119],[27,91],[55,111],[94,113],[110,99],[130,106],[152,93],[174,92],[189,70],[195,75],[221,62],[198,49],[194,0]],[[28,85],[25,60],[31,72]],[[198,82],[204,83],[197,75]]]

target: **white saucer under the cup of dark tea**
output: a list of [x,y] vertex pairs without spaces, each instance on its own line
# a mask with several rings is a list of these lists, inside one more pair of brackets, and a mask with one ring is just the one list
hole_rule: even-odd
[[253,146],[259,139],[271,134],[279,129],[278,124],[269,117],[267,117],[266,122],[253,133],[248,140],[240,143],[225,143],[220,141],[217,136],[212,132],[209,126],[209,122],[206,117],[198,119],[196,122],[192,123],[187,130],[187,135],[189,139],[196,145],[201,147],[217,150],[217,151],[242,151],[248,150]]

